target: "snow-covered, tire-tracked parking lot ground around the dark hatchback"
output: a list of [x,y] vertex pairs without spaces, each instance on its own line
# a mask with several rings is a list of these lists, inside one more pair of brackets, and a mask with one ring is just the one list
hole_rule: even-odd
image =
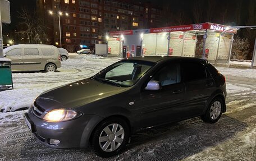
[[52,149],[36,141],[25,111],[45,90],[94,75],[117,58],[74,56],[54,73],[12,73],[14,90],[0,91],[0,160],[256,160],[256,70],[217,67],[226,76],[227,112],[208,124],[200,118],[151,128],[131,138],[112,158],[92,150]]

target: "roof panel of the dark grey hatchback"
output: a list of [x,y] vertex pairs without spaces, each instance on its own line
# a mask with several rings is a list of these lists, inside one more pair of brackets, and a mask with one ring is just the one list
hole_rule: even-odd
[[206,59],[200,59],[200,58],[194,58],[194,57],[179,57],[179,56],[141,56],[141,57],[132,57],[128,59],[155,62],[155,63],[167,61],[167,60],[198,61],[202,63],[208,62]]

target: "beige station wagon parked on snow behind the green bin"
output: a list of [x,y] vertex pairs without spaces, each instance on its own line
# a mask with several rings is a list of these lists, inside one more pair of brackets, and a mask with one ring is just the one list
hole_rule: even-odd
[[54,72],[61,67],[60,53],[53,45],[19,44],[3,49],[11,59],[12,71],[44,70]]

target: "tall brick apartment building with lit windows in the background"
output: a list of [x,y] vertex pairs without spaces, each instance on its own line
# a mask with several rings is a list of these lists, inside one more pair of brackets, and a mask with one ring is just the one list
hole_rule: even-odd
[[44,18],[51,44],[57,47],[62,45],[69,52],[81,49],[80,45],[93,48],[95,43],[106,43],[105,36],[109,31],[161,26],[162,9],[150,3],[127,0],[37,0],[36,7]]

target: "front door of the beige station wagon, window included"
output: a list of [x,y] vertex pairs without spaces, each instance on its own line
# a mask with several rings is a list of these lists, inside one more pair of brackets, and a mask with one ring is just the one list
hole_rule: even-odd
[[22,48],[14,48],[5,53],[6,58],[11,59],[11,68],[14,71],[23,70]]

